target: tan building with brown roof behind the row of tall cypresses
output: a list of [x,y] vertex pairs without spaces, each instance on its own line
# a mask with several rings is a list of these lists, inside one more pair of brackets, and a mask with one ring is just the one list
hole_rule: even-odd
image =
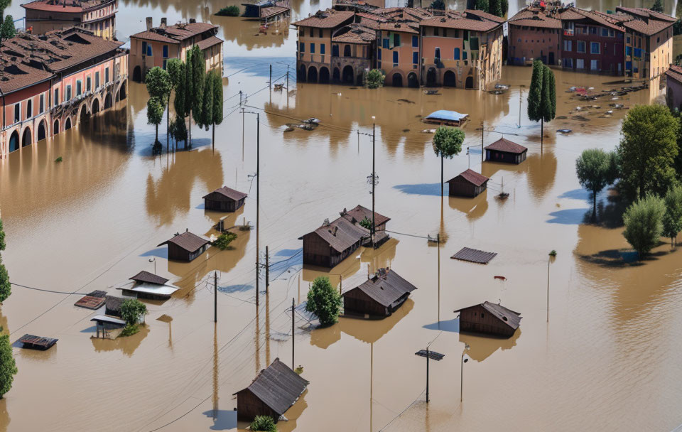
[[167,26],[166,18],[161,18],[158,27],[147,18],[146,25],[146,31],[130,36],[130,67],[135,82],[143,82],[151,68],[166,69],[170,58],[185,61],[187,50],[194,45],[204,52],[206,72],[217,70],[222,77],[222,39],[215,36],[218,26],[193,20]]

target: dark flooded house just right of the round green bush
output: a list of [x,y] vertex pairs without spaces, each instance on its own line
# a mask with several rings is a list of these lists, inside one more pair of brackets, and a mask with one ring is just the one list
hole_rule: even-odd
[[417,287],[391,269],[379,269],[363,284],[343,293],[344,313],[384,318],[402,306]]

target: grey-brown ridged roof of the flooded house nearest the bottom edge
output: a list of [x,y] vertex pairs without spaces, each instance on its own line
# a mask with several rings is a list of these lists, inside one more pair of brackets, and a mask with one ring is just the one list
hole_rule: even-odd
[[276,358],[270,366],[261,370],[249,387],[234,394],[249,390],[281,416],[296,403],[308,384],[308,381]]

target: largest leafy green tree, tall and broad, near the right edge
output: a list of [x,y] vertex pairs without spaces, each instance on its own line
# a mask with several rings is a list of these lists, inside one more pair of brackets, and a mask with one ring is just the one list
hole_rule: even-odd
[[674,183],[679,127],[678,119],[663,105],[637,105],[629,110],[617,149],[618,185],[629,198],[644,198],[647,193],[662,196]]

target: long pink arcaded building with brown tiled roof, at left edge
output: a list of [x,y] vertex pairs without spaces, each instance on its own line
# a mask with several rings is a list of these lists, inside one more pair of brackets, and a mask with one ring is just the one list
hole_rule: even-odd
[[126,99],[128,54],[120,45],[81,28],[3,41],[0,157]]

